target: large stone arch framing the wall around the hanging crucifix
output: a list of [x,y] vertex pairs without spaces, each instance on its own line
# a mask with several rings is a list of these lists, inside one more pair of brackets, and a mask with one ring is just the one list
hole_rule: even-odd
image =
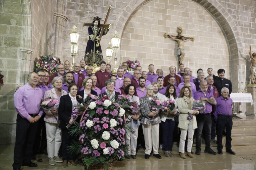
[[[130,16],[144,3],[151,0],[132,0],[122,12],[117,24],[116,30],[121,35],[124,31],[124,26],[129,20]],[[231,70],[239,63],[239,54],[243,56],[243,45],[237,26],[232,17],[223,8],[223,6],[216,0],[192,0],[205,8],[218,22],[220,28],[223,30],[224,36],[228,41],[230,51]],[[122,38],[122,37],[121,37]],[[119,54],[120,55],[120,54]],[[240,61],[242,62],[242,60]],[[231,72],[232,73],[232,72]],[[231,79],[235,79],[235,75],[231,74]]]

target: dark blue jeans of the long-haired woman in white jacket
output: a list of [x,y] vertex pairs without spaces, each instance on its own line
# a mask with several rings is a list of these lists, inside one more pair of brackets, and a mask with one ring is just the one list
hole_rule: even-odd
[[162,128],[162,140],[165,151],[171,151],[173,145],[173,131],[175,127],[175,121],[166,119],[165,122],[161,121]]

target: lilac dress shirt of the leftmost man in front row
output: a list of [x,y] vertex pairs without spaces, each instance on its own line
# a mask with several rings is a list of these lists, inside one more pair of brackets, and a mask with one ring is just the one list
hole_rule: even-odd
[[14,93],[14,106],[22,118],[29,120],[29,114],[38,114],[40,117],[43,111],[40,109],[40,103],[43,99],[42,90],[35,86],[33,89],[28,83],[17,89]]

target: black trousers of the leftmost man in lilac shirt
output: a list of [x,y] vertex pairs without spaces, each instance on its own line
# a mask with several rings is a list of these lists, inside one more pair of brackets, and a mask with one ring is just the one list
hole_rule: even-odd
[[29,163],[33,152],[38,121],[30,123],[17,114],[16,140],[14,146],[13,168],[20,168],[22,163]]

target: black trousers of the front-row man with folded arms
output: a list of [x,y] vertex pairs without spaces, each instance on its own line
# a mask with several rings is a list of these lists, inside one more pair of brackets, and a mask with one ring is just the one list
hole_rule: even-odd
[[205,131],[205,145],[206,149],[211,147],[211,129],[212,129],[212,117],[211,113],[208,114],[197,114],[197,129],[196,135],[196,148],[201,149],[201,138],[202,131]]

